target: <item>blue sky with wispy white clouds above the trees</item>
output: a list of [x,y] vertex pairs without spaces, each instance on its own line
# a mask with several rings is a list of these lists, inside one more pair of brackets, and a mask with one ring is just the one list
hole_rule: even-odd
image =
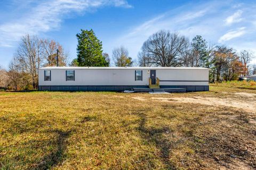
[[26,33],[58,41],[72,60],[80,29],[93,29],[110,57],[122,45],[137,58],[143,42],[159,30],[256,53],[255,9],[255,1],[231,0],[2,0],[0,65],[7,68]]

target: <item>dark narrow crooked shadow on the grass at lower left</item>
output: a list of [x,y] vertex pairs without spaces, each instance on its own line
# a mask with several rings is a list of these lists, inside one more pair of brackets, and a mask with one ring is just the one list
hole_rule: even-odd
[[46,131],[57,134],[57,140],[52,141],[52,145],[56,146],[50,154],[45,155],[39,162],[34,164],[35,166],[29,169],[50,169],[51,167],[58,165],[64,160],[63,152],[66,149],[65,140],[69,137],[72,131],[50,130]]

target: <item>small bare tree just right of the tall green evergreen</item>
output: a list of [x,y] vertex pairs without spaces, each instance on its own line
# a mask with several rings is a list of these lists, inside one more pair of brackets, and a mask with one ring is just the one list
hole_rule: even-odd
[[123,46],[115,48],[112,57],[118,67],[132,66],[132,58],[129,57],[128,50]]

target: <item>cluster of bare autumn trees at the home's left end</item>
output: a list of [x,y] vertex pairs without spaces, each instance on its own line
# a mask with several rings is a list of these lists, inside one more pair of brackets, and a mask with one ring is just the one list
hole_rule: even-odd
[[40,39],[37,36],[23,36],[8,70],[1,69],[0,87],[14,90],[37,89],[38,69],[57,64],[57,49],[59,65],[67,65],[68,54],[56,41]]

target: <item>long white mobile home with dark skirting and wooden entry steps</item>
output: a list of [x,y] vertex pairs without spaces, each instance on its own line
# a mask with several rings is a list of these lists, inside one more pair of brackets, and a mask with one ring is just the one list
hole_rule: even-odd
[[131,89],[208,91],[202,67],[42,67],[39,90],[124,91]]

